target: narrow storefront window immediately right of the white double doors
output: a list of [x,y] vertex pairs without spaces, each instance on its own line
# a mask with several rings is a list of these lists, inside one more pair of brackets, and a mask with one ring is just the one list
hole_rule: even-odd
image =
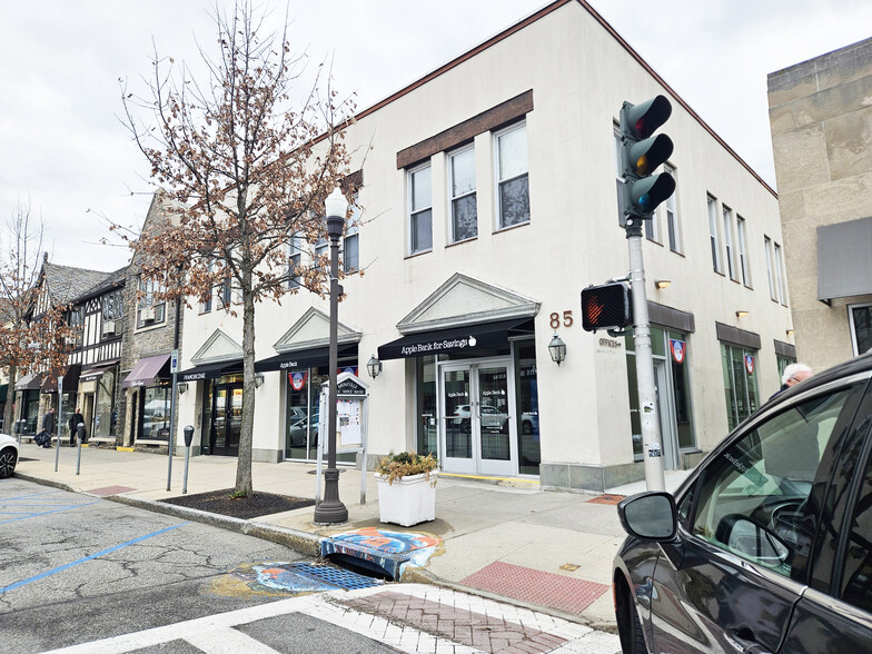
[[515,388],[517,389],[518,473],[538,475],[542,450],[539,440],[539,389],[536,375],[536,346],[532,340],[515,345]]

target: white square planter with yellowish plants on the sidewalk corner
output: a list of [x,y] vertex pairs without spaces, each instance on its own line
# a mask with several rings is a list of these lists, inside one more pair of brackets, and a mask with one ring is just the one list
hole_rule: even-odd
[[383,457],[375,475],[379,519],[404,527],[436,519],[437,468],[433,454],[400,452]]

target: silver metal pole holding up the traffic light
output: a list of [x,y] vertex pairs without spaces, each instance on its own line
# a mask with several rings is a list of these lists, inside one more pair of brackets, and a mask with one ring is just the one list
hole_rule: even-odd
[[[636,222],[636,225],[632,225]],[[627,220],[630,246],[630,287],[633,291],[633,339],[636,349],[636,384],[638,386],[638,412],[642,423],[643,456],[645,457],[645,484],[648,490],[665,490],[663,476],[663,446],[657,416],[657,392],[654,386],[654,357],[651,349],[651,325],[648,300],[645,297],[645,265],[642,260],[641,220]]]

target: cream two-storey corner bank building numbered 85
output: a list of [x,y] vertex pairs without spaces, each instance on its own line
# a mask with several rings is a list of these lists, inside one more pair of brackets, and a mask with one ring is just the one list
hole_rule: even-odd
[[[795,349],[774,191],[587,3],[558,0],[347,128],[359,190],[339,369],[383,365],[367,378],[368,468],[417,449],[445,472],[545,487],[643,478],[632,334],[582,330],[579,291],[627,274],[618,112],[658,93],[677,188],[643,254],[666,467],[694,465],[777,389]],[[234,301],[216,289],[182,333],[179,424],[216,455],[239,438]],[[256,460],[315,458],[327,315],[305,291],[257,306]]]

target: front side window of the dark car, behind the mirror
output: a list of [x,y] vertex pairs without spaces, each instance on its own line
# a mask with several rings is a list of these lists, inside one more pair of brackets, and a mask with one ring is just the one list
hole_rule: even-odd
[[794,556],[814,537],[805,501],[848,396],[794,405],[724,449],[703,472],[693,533],[791,576]]

